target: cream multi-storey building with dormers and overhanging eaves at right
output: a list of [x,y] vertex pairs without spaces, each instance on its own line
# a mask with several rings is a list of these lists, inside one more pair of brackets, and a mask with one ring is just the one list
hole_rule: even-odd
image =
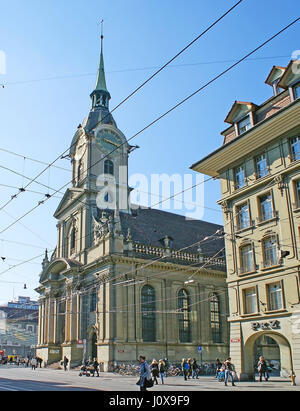
[[230,355],[242,379],[254,377],[262,347],[282,375],[300,378],[299,68],[274,66],[272,97],[236,101],[223,145],[192,166],[221,183]]

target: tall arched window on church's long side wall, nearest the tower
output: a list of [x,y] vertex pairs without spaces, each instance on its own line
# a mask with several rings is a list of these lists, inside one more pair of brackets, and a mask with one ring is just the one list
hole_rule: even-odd
[[142,338],[146,342],[156,341],[155,290],[149,285],[142,288]]

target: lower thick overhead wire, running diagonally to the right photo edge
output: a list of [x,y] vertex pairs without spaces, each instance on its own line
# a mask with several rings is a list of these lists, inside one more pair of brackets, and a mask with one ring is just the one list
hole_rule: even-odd
[[[210,81],[208,81],[206,84],[204,84],[202,87],[200,87],[199,89],[197,89],[196,91],[194,91],[192,94],[190,94],[189,96],[187,96],[185,99],[181,100],[179,103],[177,103],[175,106],[173,106],[172,108],[170,108],[168,111],[166,111],[164,114],[162,114],[161,116],[157,117],[155,120],[153,120],[151,123],[149,123],[147,126],[145,126],[143,129],[141,129],[139,132],[137,132],[136,134],[134,134],[132,137],[130,137],[128,140],[126,140],[124,143],[120,144],[119,146],[117,146],[115,149],[113,149],[110,153],[108,153],[106,156],[102,157],[100,160],[96,161],[94,164],[90,165],[86,170],[84,170],[84,172],[87,172],[88,170],[90,170],[92,167],[94,167],[95,165],[99,164],[101,161],[104,161],[105,158],[107,158],[110,154],[114,153],[116,150],[118,150],[120,147],[124,146],[125,144],[127,144],[129,141],[131,141],[132,139],[136,138],[138,135],[142,134],[144,131],[146,131],[148,128],[150,128],[151,126],[153,126],[154,124],[158,123],[161,119],[163,119],[164,117],[166,117],[168,114],[170,114],[171,112],[173,112],[174,110],[176,110],[178,107],[182,106],[184,103],[186,103],[188,100],[190,100],[192,97],[194,97],[195,95],[197,95],[198,93],[200,93],[202,90],[204,90],[205,88],[207,88],[209,85],[211,85],[212,83],[214,83],[215,81],[217,81],[219,78],[221,78],[222,76],[224,76],[225,74],[227,74],[229,71],[231,71],[233,68],[235,68],[236,66],[238,66],[239,64],[241,64],[244,60],[246,60],[249,56],[253,55],[254,53],[256,53],[258,50],[260,50],[261,48],[263,48],[266,44],[270,43],[272,40],[274,40],[276,37],[278,37],[281,33],[283,33],[284,31],[286,31],[288,28],[290,28],[291,26],[293,26],[294,24],[296,24],[298,21],[300,20],[300,17],[298,17],[297,19],[295,19],[294,21],[292,21],[291,23],[289,23],[288,25],[286,25],[283,29],[281,29],[280,31],[278,31],[276,34],[274,34],[273,36],[271,36],[269,39],[267,39],[266,41],[264,41],[262,44],[260,44],[258,47],[256,47],[254,50],[252,50],[251,52],[247,53],[244,57],[242,57],[240,60],[238,60],[238,62],[232,64],[230,67],[228,67],[227,69],[223,70],[220,74],[218,74],[217,76],[215,76],[213,79],[211,79]],[[65,185],[63,185],[62,187],[60,187],[56,192],[53,193],[53,195],[57,194],[60,190],[62,190],[63,188],[65,188],[66,186],[68,186],[71,182],[73,181],[73,179],[71,181],[69,181],[68,183],[66,183]],[[18,221],[20,221],[21,219],[23,219],[24,217],[26,217],[28,214],[30,214],[31,212],[33,212],[34,210],[36,210],[40,205],[44,204],[46,201],[48,201],[49,199],[46,199],[42,202],[40,202],[39,204],[37,204],[35,207],[33,207],[31,210],[29,210],[27,213],[25,213],[23,216],[21,216],[18,220],[16,220],[14,223],[10,224],[8,227],[6,227],[4,230],[2,230],[0,232],[0,234],[4,233],[5,231],[7,231],[9,228],[11,228],[14,224],[16,224]]]

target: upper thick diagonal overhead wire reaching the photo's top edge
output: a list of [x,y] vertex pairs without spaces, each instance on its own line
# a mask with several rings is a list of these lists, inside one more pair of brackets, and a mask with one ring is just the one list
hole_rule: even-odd
[[[232,12],[238,5],[240,5],[243,0],[239,0],[234,6],[232,6],[229,10],[227,10],[221,17],[219,17],[214,23],[212,23],[207,29],[205,29],[201,34],[199,34],[193,41],[191,41],[186,47],[184,47],[179,53],[177,53],[174,57],[172,57],[166,64],[164,64],[159,70],[157,70],[153,75],[151,75],[146,81],[144,81],[139,87],[137,87],[132,93],[130,93],[124,100],[122,100],[116,107],[113,108],[110,112],[108,112],[100,124],[105,120],[109,115],[111,115],[115,110],[117,110],[121,105],[123,105],[126,101],[128,101],[131,97],[133,97],[141,88],[143,88],[146,84],[148,84],[154,77],[156,77],[162,70],[164,70],[167,66],[169,66],[174,60],[176,60],[181,54],[183,54],[189,47],[191,47],[195,42],[197,42],[201,37],[203,37],[208,31],[210,31],[217,23],[223,20],[230,12]],[[98,123],[98,124],[99,124]],[[74,142],[67,150],[65,150],[62,154],[60,154],[54,161],[52,161],[44,170],[42,170],[35,178],[29,182],[24,189],[26,190],[37,178],[39,178],[42,174],[44,174],[49,167],[52,167],[58,160],[60,160],[64,155],[66,155],[70,149],[75,146],[77,142]],[[7,203],[0,209],[3,210],[8,204],[11,203],[21,192],[18,192],[15,196],[13,196]],[[55,193],[56,194],[56,193]]]

